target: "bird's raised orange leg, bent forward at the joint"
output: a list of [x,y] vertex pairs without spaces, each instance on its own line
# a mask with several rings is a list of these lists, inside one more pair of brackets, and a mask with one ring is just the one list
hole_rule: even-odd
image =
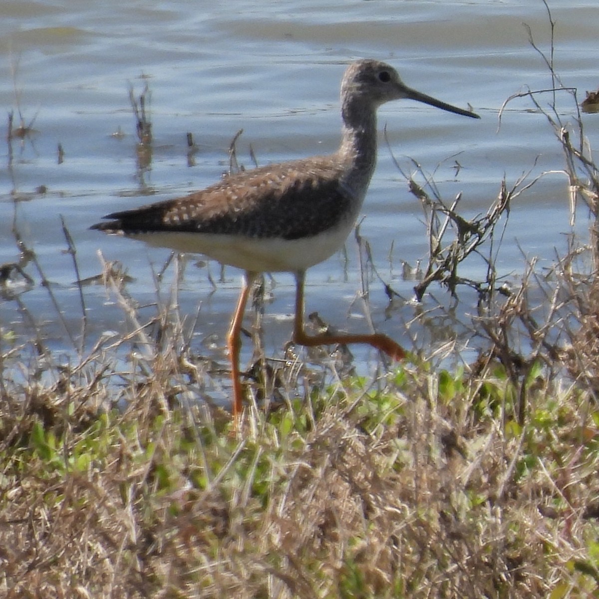
[[333,343],[367,343],[376,349],[385,352],[394,360],[401,360],[406,357],[403,347],[395,343],[394,340],[381,333],[370,335],[307,335],[304,331],[304,273],[295,275],[295,323],[294,323],[294,343],[308,347],[318,345],[330,345]]

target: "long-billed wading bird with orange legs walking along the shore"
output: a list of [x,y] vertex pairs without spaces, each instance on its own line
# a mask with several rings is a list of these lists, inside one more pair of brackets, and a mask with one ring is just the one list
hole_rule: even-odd
[[377,108],[403,98],[479,118],[410,89],[384,62],[358,60],[341,81],[343,124],[337,152],[243,171],[181,198],[108,214],[104,217],[108,222],[92,226],[152,246],[201,253],[245,271],[227,337],[235,419],[241,415],[243,400],[239,368],[243,314],[260,273],[294,273],[295,343],[367,343],[393,359],[405,356],[401,346],[380,333],[304,331],[305,271],[337,252],[352,231],[376,165]]

